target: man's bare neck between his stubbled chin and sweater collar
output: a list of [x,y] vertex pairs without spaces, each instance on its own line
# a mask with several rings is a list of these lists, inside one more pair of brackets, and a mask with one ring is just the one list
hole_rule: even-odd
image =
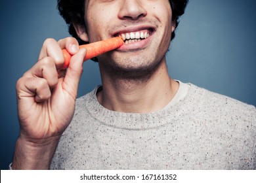
[[[113,73],[112,73],[113,74]],[[166,62],[153,73],[140,77],[115,77],[102,73],[99,103],[118,112],[147,113],[165,107],[175,96],[179,83],[168,75]]]

